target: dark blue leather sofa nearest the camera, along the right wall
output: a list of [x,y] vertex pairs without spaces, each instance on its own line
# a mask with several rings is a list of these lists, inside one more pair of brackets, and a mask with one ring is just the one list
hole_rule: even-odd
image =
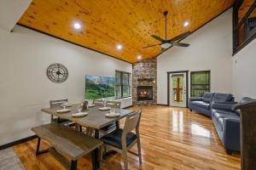
[[[243,98],[239,103],[253,101]],[[212,103],[212,122],[227,153],[240,151],[240,111],[233,111],[231,103]]]

